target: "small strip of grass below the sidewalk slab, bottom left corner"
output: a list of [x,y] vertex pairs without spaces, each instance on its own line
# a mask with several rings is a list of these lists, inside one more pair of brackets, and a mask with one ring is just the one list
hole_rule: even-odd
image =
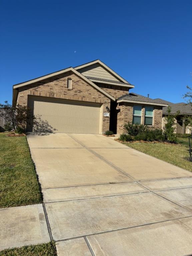
[[56,256],[54,242],[38,245],[23,246],[20,248],[0,251],[0,256]]

